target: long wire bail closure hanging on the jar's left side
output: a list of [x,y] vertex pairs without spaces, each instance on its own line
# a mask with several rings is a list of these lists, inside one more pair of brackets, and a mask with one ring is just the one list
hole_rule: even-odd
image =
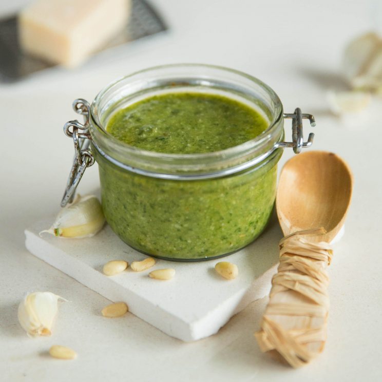
[[89,149],[91,140],[89,133],[90,104],[86,100],[79,98],[73,101],[72,106],[75,112],[84,116],[84,123],[74,120],[64,125],[65,135],[73,139],[75,154],[61,207],[65,207],[73,201],[75,189],[80,183],[86,168],[94,164],[94,157]]

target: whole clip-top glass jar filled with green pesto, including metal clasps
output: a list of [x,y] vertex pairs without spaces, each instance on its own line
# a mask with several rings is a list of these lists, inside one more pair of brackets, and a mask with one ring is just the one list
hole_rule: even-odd
[[[255,240],[272,213],[281,148],[313,139],[303,142],[301,122],[313,116],[283,114],[267,85],[216,66],[146,69],[74,107],[86,121],[65,125],[77,159],[62,205],[97,161],[112,230],[168,260],[216,258]],[[293,119],[293,142],[282,142],[283,118]]]

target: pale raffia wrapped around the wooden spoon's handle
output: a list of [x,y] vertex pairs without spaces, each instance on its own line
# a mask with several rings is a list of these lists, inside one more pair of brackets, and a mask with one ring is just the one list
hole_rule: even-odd
[[261,330],[255,333],[262,352],[277,350],[294,368],[318,355],[326,341],[326,268],[333,252],[327,242],[309,240],[324,233],[323,228],[300,231],[280,241],[278,272],[272,279]]

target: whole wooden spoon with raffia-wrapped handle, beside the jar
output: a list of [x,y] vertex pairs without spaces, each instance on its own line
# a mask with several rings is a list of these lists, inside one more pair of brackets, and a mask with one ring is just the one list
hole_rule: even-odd
[[345,221],[353,177],[326,151],[309,151],[284,165],[276,209],[284,239],[270,301],[255,333],[261,351],[277,350],[293,367],[307,364],[326,341],[329,246]]

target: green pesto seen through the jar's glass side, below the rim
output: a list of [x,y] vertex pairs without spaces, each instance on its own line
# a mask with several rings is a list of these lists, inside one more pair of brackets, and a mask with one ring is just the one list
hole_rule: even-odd
[[176,260],[229,254],[255,240],[271,216],[281,153],[261,168],[201,181],[133,174],[94,154],[107,222],[146,254]]

